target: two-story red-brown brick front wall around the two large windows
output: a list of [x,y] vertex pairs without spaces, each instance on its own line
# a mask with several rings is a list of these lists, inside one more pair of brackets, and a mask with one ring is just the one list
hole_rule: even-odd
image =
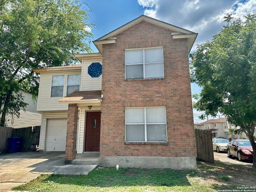
[[[103,45],[100,156],[196,156],[187,39],[147,22]],[[164,79],[124,79],[124,49],[163,46]],[[126,145],[125,107],[166,106],[168,145]]]

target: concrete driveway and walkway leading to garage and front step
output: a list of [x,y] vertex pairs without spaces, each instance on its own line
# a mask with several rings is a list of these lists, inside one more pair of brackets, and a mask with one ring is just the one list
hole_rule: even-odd
[[28,152],[0,156],[0,192],[9,191],[40,174],[88,174],[97,165],[64,165],[64,153]]

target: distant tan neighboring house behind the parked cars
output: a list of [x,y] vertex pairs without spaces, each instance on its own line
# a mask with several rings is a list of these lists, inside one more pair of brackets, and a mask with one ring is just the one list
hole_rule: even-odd
[[241,137],[247,138],[244,132],[240,134],[230,133],[230,129],[236,130],[239,129],[239,127],[231,125],[225,117],[210,119],[203,123],[195,124],[195,129],[211,130],[212,137],[223,137],[226,139],[240,139]]

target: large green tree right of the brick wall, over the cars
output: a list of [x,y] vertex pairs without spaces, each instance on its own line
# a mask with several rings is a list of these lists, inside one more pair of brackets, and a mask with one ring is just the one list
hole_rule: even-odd
[[226,25],[210,42],[198,45],[191,61],[192,82],[202,87],[194,107],[201,116],[225,115],[239,126],[253,148],[256,168],[256,15],[225,17]]

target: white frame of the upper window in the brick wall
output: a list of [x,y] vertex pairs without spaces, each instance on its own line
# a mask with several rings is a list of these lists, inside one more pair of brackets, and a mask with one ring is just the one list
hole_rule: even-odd
[[[163,62],[145,62],[145,50],[149,50],[149,49],[160,49],[162,48],[163,50]],[[126,64],[126,51],[133,51],[133,50],[142,50],[143,53],[143,63],[130,63],[130,64]],[[157,64],[157,63],[163,63],[163,77],[145,77],[145,65],[147,64]],[[150,79],[150,78],[164,78],[164,48],[163,46],[158,46],[158,47],[145,47],[145,48],[137,48],[137,49],[125,49],[124,50],[124,78],[125,79],[137,79],[137,78],[126,78],[126,66],[129,65],[143,65],[143,79]],[[142,78],[138,78],[138,79],[142,79]]]

